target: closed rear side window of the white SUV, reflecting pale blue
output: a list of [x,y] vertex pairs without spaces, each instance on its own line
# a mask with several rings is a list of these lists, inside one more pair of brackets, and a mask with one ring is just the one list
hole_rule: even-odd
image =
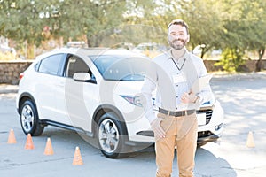
[[39,63],[38,72],[58,75],[59,65],[61,63],[62,58],[63,54],[56,54],[48,58],[43,58]]

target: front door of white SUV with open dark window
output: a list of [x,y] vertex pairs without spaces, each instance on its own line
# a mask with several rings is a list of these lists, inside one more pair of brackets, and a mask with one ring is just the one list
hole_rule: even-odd
[[[74,73],[90,73],[92,79],[88,82],[74,81]],[[61,91],[56,93],[59,121],[90,131],[90,119],[93,111],[88,103],[97,95],[97,84],[89,66],[82,58],[67,54],[62,76],[59,82],[64,84],[58,89]],[[84,89],[86,89],[85,92]]]

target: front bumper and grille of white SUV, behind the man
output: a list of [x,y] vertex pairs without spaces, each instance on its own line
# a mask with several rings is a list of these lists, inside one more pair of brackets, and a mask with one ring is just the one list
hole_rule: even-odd
[[[201,124],[198,118],[199,114],[205,114],[205,120]],[[216,142],[222,136],[224,112],[219,102],[215,103],[215,107],[205,108],[197,112],[197,118],[199,123],[198,144]],[[137,119],[137,121],[129,122],[127,126],[129,130],[128,145],[135,146],[137,144],[154,143],[153,131],[145,117]]]

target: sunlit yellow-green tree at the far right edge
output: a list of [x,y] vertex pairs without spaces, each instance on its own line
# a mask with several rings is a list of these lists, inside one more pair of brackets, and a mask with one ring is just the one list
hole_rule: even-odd
[[[236,55],[231,59],[238,70],[243,65],[246,50],[258,50],[259,61],[265,50],[265,3],[264,1],[223,1],[224,35],[221,47]],[[264,18],[263,18],[264,17]],[[258,69],[256,69],[258,71]]]

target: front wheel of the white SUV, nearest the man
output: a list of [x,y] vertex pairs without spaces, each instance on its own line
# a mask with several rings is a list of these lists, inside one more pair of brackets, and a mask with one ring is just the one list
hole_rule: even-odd
[[124,158],[128,155],[126,129],[113,112],[104,114],[98,121],[98,147],[106,158]]

